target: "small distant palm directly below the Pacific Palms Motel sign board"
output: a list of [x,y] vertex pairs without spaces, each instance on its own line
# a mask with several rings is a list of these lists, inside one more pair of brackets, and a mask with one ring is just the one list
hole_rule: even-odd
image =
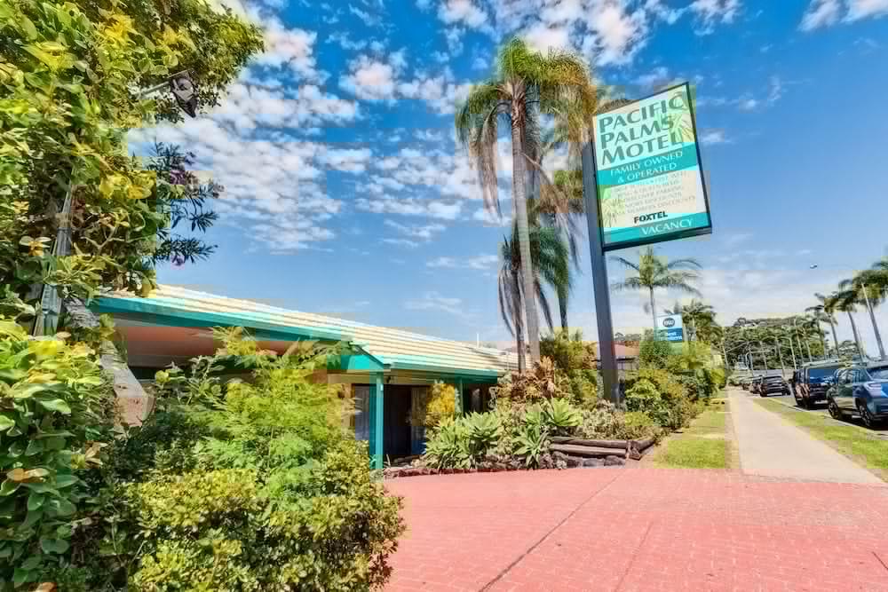
[[666,257],[659,257],[653,247],[647,247],[638,254],[638,263],[634,263],[624,257],[611,257],[618,264],[635,272],[625,280],[614,283],[615,290],[647,290],[651,302],[651,314],[654,320],[654,338],[657,335],[657,307],[654,299],[654,290],[657,288],[674,289],[693,296],[701,296],[700,290],[694,288],[692,283],[700,280],[700,274],[696,270],[702,265],[696,259],[676,259],[669,261]]

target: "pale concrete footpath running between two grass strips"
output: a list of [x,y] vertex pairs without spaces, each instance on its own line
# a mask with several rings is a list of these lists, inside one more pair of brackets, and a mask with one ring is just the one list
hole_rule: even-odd
[[731,419],[747,475],[884,485],[868,470],[753,402],[746,391],[729,389]]

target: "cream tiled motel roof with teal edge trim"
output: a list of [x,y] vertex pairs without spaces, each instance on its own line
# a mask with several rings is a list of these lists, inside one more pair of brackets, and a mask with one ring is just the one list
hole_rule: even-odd
[[175,327],[246,327],[275,339],[348,341],[386,369],[484,375],[518,369],[517,354],[507,351],[174,286],[160,286],[145,298],[128,292],[106,294],[97,298],[94,308]]

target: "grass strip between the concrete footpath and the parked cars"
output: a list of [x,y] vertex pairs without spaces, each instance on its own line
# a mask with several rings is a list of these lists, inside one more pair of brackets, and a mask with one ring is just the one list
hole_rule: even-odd
[[888,477],[888,440],[876,438],[867,430],[843,425],[820,414],[804,413],[786,407],[777,401],[756,399],[756,403],[820,438],[838,452],[849,456],[882,477]]

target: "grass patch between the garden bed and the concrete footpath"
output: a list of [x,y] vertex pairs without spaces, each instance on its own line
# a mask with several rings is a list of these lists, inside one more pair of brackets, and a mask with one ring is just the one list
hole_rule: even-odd
[[656,451],[654,464],[683,469],[727,469],[731,464],[730,445],[725,438],[725,405],[713,404],[690,427],[673,434]]

